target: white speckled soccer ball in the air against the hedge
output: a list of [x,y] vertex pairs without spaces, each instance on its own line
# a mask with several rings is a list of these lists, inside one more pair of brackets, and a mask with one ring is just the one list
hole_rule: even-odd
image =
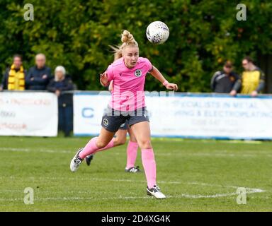
[[146,35],[149,42],[162,44],[169,37],[169,28],[162,21],[154,21],[148,25]]

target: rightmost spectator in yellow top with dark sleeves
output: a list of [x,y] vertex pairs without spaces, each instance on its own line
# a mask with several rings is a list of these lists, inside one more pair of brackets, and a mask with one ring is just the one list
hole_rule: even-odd
[[251,57],[242,60],[244,72],[242,73],[242,92],[256,97],[264,88],[264,73],[254,65]]

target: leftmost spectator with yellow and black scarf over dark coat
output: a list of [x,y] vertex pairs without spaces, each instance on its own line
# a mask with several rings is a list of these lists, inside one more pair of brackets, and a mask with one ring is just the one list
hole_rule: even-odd
[[6,69],[0,85],[1,90],[25,90],[26,70],[23,69],[22,57],[14,55],[13,64]]

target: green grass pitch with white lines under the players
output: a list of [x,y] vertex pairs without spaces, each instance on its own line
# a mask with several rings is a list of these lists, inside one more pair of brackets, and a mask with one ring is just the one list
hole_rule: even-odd
[[[89,138],[0,137],[1,211],[271,211],[272,143],[154,139],[157,182],[124,172],[126,145],[98,153],[76,173],[69,162]],[[142,169],[140,151],[137,165]],[[24,203],[26,187],[34,204]],[[237,204],[237,188],[246,204]]]

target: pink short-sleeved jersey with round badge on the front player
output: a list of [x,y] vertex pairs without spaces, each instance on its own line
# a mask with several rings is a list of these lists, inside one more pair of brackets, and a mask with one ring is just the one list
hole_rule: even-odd
[[125,66],[123,57],[108,66],[108,81],[113,81],[110,106],[125,112],[145,107],[145,76],[151,70],[150,61],[142,57],[132,69]]

